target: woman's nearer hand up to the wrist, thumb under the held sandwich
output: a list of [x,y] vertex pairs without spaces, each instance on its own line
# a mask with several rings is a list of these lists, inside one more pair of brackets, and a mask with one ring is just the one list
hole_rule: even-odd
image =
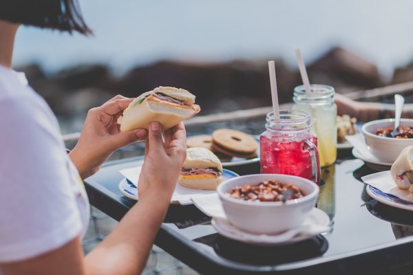
[[145,148],[145,161],[138,180],[139,197],[149,192],[159,199],[171,199],[185,157],[187,157],[187,135],[184,124],[165,132],[165,141],[159,122],[149,126],[149,139]]

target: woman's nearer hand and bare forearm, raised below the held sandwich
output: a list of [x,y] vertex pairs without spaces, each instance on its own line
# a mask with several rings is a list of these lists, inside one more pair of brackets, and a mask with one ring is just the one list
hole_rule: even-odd
[[165,132],[165,141],[160,124],[151,123],[145,162],[138,180],[139,200],[115,230],[87,254],[87,274],[142,272],[156,233],[165,219],[186,155],[186,133],[182,122]]

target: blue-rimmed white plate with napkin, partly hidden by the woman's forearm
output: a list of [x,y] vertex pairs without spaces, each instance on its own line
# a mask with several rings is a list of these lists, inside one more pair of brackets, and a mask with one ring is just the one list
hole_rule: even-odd
[[[233,177],[239,177],[240,175],[238,175],[237,173],[231,171],[231,170],[227,170],[224,169],[222,172],[222,181],[226,180],[226,179],[231,179]],[[119,182],[118,188],[120,190],[120,192],[125,195],[126,197],[129,197],[130,199],[135,199],[136,201],[138,200],[138,188],[131,183],[131,181],[127,180],[126,178],[122,179]],[[188,196],[184,197],[184,195],[180,195],[181,199],[171,199],[171,203],[173,204],[181,204],[182,206],[186,206],[189,204],[192,204],[192,200],[191,200],[191,195],[207,195],[207,194],[211,194],[213,192],[213,190],[193,190],[193,189],[189,189],[186,188],[184,186],[181,186],[180,184],[176,184],[176,189],[174,194],[176,194],[177,192],[179,192],[180,194],[185,193],[185,191],[187,191]]]

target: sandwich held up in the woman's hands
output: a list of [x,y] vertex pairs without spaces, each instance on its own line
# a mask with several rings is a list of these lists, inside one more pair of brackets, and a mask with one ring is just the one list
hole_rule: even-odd
[[189,91],[174,87],[158,87],[147,91],[132,101],[118,118],[120,131],[148,129],[153,121],[160,122],[162,131],[200,112],[195,96]]

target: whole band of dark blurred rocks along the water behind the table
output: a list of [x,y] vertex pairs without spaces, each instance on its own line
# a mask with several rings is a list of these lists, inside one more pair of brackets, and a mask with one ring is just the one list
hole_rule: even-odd
[[[266,61],[270,59],[222,63],[160,61],[134,67],[121,76],[114,76],[103,64],[77,65],[51,75],[36,63],[17,70],[25,72],[32,87],[50,104],[63,133],[70,133],[81,131],[88,109],[116,94],[135,97],[159,85],[191,91],[197,96],[203,115],[267,106],[271,93]],[[275,62],[279,100],[291,102],[293,88],[301,85],[299,72],[289,69],[282,59]],[[413,63],[396,68],[390,81],[383,80],[374,64],[341,47],[333,47],[307,66],[312,83],[332,85],[341,94],[413,80]]]

